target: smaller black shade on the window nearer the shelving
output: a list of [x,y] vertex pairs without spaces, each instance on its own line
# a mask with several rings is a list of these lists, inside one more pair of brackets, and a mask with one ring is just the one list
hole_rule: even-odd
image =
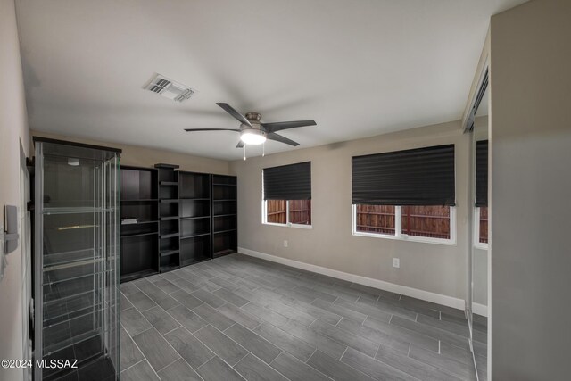
[[310,200],[311,162],[264,168],[264,200]]

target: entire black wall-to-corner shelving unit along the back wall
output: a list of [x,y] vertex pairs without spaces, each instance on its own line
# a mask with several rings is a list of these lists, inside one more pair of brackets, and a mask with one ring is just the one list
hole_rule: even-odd
[[122,166],[121,281],[237,251],[235,176]]

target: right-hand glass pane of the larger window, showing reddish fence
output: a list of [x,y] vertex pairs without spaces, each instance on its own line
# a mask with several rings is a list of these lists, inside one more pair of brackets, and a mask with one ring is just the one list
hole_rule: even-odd
[[403,206],[402,234],[450,239],[449,206]]

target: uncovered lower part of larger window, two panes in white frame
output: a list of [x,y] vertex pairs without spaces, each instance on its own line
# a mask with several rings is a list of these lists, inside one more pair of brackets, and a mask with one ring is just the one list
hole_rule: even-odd
[[453,244],[454,213],[450,206],[353,205],[353,234]]

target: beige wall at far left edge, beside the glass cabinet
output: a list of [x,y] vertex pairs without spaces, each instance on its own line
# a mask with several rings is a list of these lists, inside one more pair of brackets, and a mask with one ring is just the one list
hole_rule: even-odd
[[[21,204],[20,147],[29,147],[29,129],[13,0],[0,0],[0,225],[4,204]],[[19,208],[19,215],[21,210]],[[2,249],[0,249],[2,250]],[[22,250],[8,257],[0,283],[0,359],[22,359]],[[21,380],[22,369],[0,368],[1,380]]]

